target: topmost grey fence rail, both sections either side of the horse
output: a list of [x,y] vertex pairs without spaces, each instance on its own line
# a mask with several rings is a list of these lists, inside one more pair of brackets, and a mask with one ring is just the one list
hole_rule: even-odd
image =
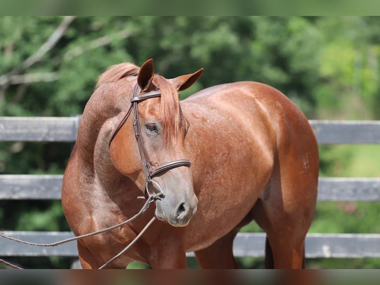
[[[0,117],[0,141],[74,142],[80,116]],[[319,144],[380,143],[380,121],[310,120]]]

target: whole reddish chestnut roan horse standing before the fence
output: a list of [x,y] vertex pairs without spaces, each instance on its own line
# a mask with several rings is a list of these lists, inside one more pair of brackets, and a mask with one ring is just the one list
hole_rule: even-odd
[[255,220],[266,268],[305,268],[305,237],[317,200],[318,147],[300,109],[279,90],[241,81],[179,92],[201,75],[167,79],[153,60],[111,66],[98,78],[66,165],[62,206],[78,236],[82,268],[137,261],[153,269],[237,268],[233,242]]

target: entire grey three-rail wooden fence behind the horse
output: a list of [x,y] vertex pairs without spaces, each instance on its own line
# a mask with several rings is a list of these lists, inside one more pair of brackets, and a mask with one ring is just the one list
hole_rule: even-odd
[[[0,117],[0,141],[74,142],[79,117]],[[380,121],[310,121],[319,144],[380,143]],[[69,153],[67,153],[67,156]],[[62,175],[0,175],[0,199],[61,199]],[[319,178],[318,201],[380,201],[380,178]],[[333,218],[333,217],[331,217]],[[51,243],[71,232],[7,231],[27,241]],[[264,256],[265,234],[239,233],[238,257]],[[190,253],[189,256],[193,254]],[[77,256],[76,242],[57,247],[23,245],[0,238],[0,256]],[[380,234],[309,233],[308,258],[380,257]]]

